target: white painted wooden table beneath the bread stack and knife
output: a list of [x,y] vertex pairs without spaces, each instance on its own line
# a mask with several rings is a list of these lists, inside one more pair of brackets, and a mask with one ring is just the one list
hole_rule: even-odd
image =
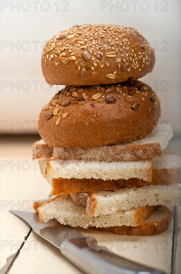
[[[8,212],[10,209],[32,210],[34,200],[46,199],[50,194],[50,185],[42,178],[37,162],[31,159],[33,138],[4,139],[1,149],[1,274],[81,273],[59,250]],[[174,143],[173,148],[177,148]],[[80,232],[95,237],[99,244],[120,256],[168,274],[181,274],[180,209],[174,208],[169,229],[156,236],[119,236],[92,229]]]

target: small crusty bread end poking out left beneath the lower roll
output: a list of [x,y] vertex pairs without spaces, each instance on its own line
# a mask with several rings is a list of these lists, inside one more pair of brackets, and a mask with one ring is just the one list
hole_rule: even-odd
[[53,155],[53,147],[49,146],[44,142],[43,139],[35,141],[32,145],[32,158],[51,158]]

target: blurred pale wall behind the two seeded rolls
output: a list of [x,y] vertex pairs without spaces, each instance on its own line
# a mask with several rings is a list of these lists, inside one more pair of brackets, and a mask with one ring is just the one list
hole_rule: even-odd
[[142,80],[157,91],[162,120],[180,134],[180,0],[0,2],[2,133],[36,133],[41,108],[60,89],[44,82],[43,42],[73,24],[110,23],[137,28],[156,49],[153,72]]

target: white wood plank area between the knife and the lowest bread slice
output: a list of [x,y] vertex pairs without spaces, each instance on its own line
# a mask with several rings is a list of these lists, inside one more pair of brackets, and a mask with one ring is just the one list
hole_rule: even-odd
[[101,246],[117,255],[171,273],[173,221],[167,231],[154,236],[121,236],[92,229],[79,232],[96,238]]

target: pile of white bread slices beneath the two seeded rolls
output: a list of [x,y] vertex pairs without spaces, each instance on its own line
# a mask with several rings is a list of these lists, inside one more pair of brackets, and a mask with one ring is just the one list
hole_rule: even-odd
[[[172,220],[166,206],[181,203],[181,159],[179,154],[162,152],[173,136],[170,125],[160,136],[162,127],[141,140],[110,146],[113,162],[107,160],[111,156],[104,153],[104,147],[97,147],[91,161],[95,147],[82,152],[82,148],[52,148],[42,139],[35,141],[33,158],[39,160],[42,173],[49,179],[52,195],[58,195],[48,206],[38,204],[40,221],[56,218],[61,224],[121,235],[165,231]],[[121,151],[127,152],[129,161],[123,161]]]

